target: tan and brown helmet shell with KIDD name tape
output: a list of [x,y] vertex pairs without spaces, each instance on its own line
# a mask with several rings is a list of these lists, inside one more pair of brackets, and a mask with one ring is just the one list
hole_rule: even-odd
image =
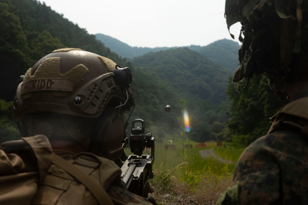
[[[40,59],[18,85],[13,118],[36,112],[55,112],[95,118],[112,97],[123,103],[126,90],[116,85],[116,64],[106,57],[80,49],[59,49]],[[133,106],[128,88],[125,112]]]

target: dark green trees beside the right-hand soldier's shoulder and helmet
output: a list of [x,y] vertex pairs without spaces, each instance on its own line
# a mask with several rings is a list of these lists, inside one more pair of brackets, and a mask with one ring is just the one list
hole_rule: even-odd
[[236,86],[230,84],[226,91],[232,106],[226,127],[229,134],[225,140],[232,141],[234,146],[245,147],[266,134],[271,125],[270,117],[278,112],[283,103],[270,90],[267,77],[253,77],[247,89],[243,89],[243,85],[243,82]]

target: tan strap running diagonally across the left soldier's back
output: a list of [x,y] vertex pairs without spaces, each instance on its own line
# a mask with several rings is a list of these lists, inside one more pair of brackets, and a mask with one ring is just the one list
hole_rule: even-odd
[[62,157],[53,153],[51,156],[52,163],[63,168],[67,173],[79,180],[92,193],[100,205],[114,205],[107,192],[97,182],[95,182],[89,175],[79,170],[73,164],[70,164]]

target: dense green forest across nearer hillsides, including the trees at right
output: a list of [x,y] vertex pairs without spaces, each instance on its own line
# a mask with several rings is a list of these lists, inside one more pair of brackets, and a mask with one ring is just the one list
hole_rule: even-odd
[[[265,134],[268,118],[282,106],[265,78],[253,78],[247,90],[241,89],[241,83],[235,87],[229,80],[232,72],[206,57],[202,52],[209,51],[202,47],[169,48],[128,61],[95,35],[35,0],[0,0],[0,23],[0,141],[19,136],[11,119],[19,76],[44,55],[63,47],[81,48],[130,67],[136,101],[131,120],[144,119],[147,132],[158,138],[180,136],[179,101],[185,97],[193,140],[228,140],[237,146],[247,146]],[[218,52],[216,47],[214,42],[209,50]],[[220,50],[236,49],[233,53],[237,53],[236,47]],[[214,56],[224,58],[219,52]],[[167,104],[171,112],[164,111]]]

